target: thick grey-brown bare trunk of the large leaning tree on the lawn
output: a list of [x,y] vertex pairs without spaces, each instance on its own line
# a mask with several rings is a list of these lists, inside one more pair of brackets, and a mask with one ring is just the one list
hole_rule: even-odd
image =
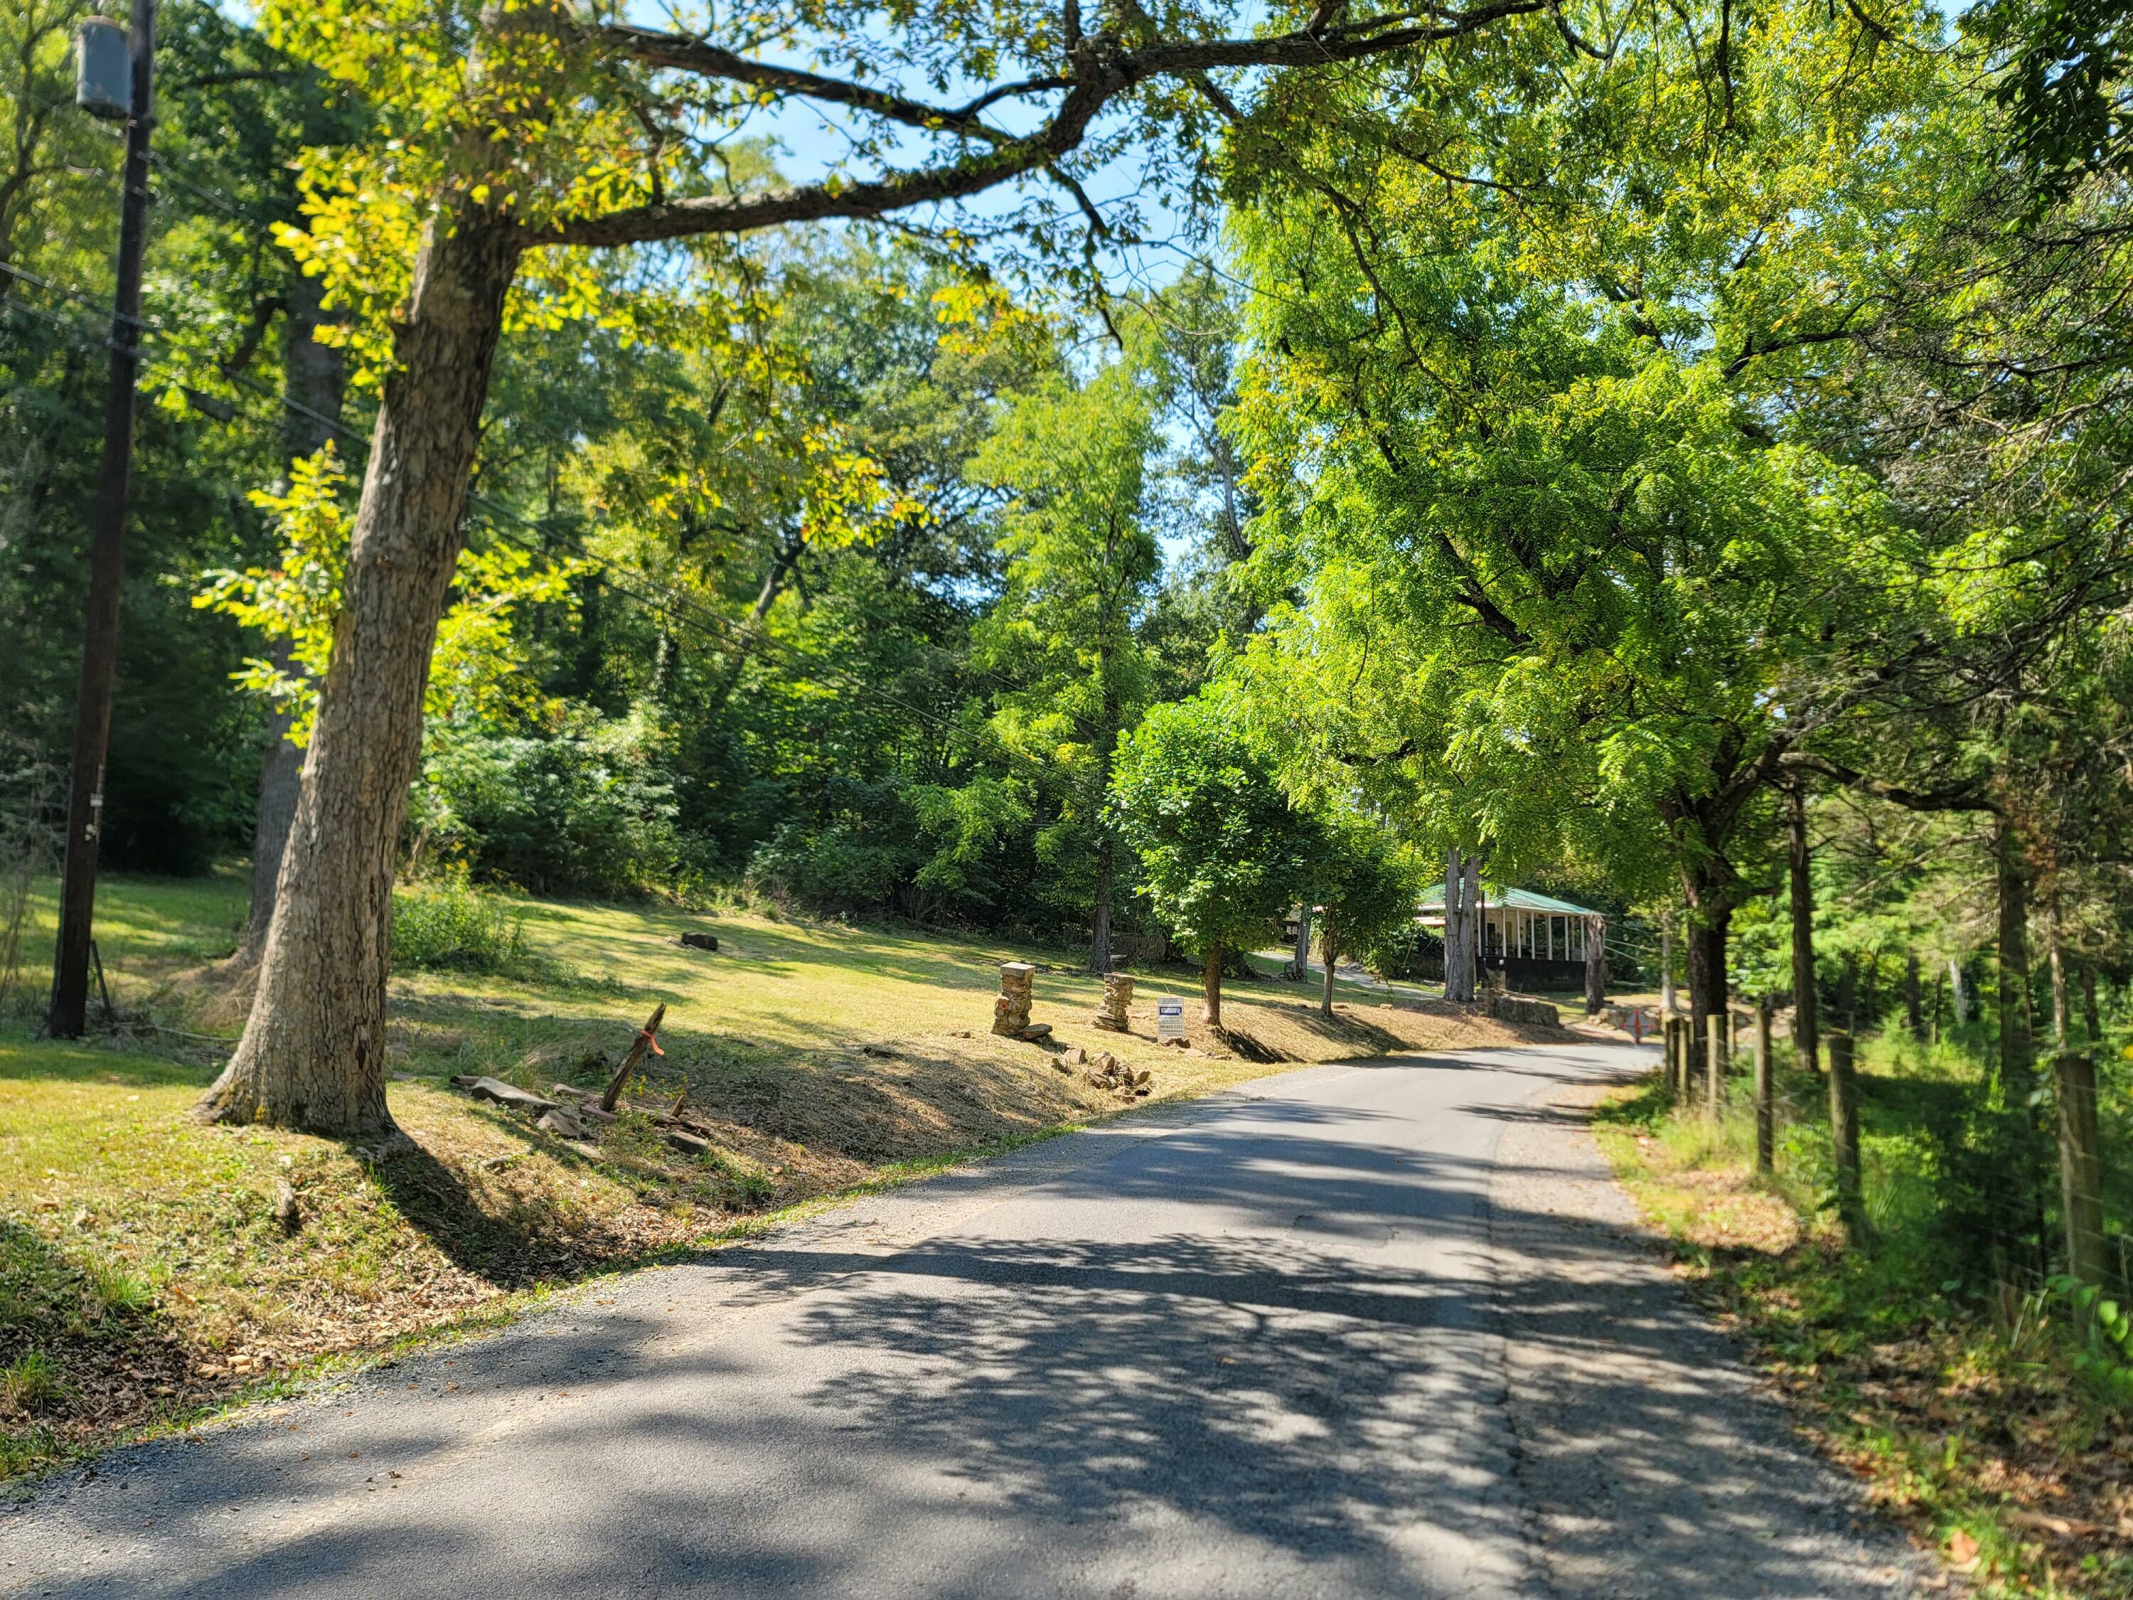
[[209,1120],[397,1133],[386,1109],[392,866],[520,245],[514,228],[471,209],[454,220],[433,224],[416,258],[258,992],[198,1107]]

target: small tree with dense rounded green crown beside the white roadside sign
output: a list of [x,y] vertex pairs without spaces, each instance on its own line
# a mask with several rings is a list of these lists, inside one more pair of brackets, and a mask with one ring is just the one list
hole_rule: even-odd
[[1212,698],[1156,706],[1120,747],[1118,828],[1141,892],[1201,958],[1201,1020],[1222,1026],[1222,960],[1267,934],[1310,883],[1322,836]]

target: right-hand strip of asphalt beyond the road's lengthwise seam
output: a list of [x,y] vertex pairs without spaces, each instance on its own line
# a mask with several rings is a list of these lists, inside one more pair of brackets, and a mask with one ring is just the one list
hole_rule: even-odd
[[1563,1596],[1892,1596],[1932,1562],[1813,1455],[1683,1295],[1587,1126],[1610,1082],[1506,1111],[1491,1180],[1517,1472]]

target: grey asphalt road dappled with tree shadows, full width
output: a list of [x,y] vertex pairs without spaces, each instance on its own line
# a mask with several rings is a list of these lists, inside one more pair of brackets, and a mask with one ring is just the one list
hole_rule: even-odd
[[109,1457],[0,1594],[1909,1591],[1621,1229],[1576,1103],[1634,1065],[1316,1067],[843,1205]]

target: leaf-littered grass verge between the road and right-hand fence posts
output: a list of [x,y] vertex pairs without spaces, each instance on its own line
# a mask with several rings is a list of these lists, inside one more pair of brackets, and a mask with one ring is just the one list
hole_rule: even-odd
[[[2078,1329],[2046,1293],[1984,1295],[1937,1227],[1935,1129],[1979,1092],[1958,1050],[1862,1052],[1862,1178],[1875,1239],[1830,1207],[1826,1086],[1781,1077],[1777,1171],[1753,1173],[1745,1082],[1709,1120],[1657,1084],[1595,1118],[1617,1178],[1696,1293],[1800,1406],[1811,1436],[1986,1596],[2133,1596],[2127,1419],[2075,1376]],[[2056,1527],[2069,1527],[2060,1534]],[[2084,1532],[2088,1530],[2088,1532]]]

